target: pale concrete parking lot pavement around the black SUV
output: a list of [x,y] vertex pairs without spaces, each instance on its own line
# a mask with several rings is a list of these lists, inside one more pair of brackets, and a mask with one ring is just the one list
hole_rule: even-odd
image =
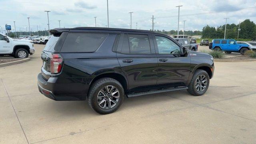
[[[100,115],[86,101],[38,92],[44,45],[22,64],[0,68],[0,143],[256,143],[256,62],[215,62],[204,96],[184,91],[126,98]],[[207,49],[208,47],[201,47]]]

